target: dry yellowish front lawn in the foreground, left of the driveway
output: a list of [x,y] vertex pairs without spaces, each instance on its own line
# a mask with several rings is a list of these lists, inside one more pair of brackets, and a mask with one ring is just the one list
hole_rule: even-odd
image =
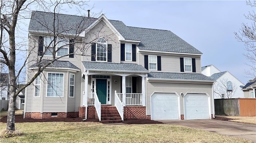
[[[5,123],[0,123],[4,129]],[[16,123],[24,135],[2,138],[0,142],[15,143],[251,143],[179,125],[106,125],[92,122]]]

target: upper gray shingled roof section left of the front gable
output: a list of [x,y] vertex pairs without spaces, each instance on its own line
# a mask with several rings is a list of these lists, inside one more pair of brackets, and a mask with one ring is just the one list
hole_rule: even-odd
[[[67,14],[55,14],[55,31],[62,34],[80,34],[96,18],[73,16]],[[52,33],[54,14],[49,12],[32,11],[28,31]],[[48,31],[50,30],[50,31]]]

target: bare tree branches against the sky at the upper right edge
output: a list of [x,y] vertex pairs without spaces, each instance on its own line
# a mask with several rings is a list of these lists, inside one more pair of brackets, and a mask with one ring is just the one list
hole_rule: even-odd
[[[256,8],[256,1],[246,1],[246,5]],[[250,71],[246,71],[246,74],[251,77],[256,77],[256,14],[255,11],[249,12],[248,15],[244,15],[247,20],[251,20],[251,24],[242,23],[242,27],[238,33],[235,32],[235,37],[238,41],[243,42],[245,50],[247,51],[244,56],[250,61],[246,63],[250,67]]]

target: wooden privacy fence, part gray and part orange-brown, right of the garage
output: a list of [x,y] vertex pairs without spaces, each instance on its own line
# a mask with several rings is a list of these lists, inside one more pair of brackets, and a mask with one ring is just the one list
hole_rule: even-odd
[[256,98],[215,99],[215,115],[256,116]]

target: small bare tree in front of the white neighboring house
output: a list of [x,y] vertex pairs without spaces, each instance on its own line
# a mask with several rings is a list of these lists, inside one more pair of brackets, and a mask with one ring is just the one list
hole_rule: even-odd
[[220,98],[232,98],[236,90],[236,84],[228,81],[228,79],[223,78],[214,84],[214,93]]

